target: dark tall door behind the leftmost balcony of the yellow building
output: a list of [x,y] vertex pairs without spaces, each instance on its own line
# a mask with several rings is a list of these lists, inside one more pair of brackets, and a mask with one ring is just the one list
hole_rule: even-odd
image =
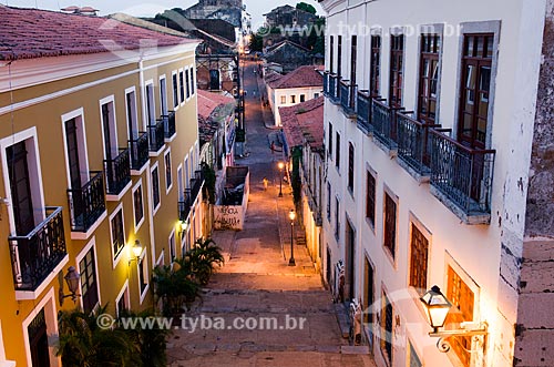
[[27,235],[34,228],[34,213],[27,153],[24,141],[7,149],[11,203],[13,205],[16,232],[18,235]]

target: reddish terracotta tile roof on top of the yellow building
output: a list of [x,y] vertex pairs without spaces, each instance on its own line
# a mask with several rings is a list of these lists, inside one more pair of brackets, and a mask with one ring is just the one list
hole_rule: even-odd
[[102,42],[135,50],[148,40],[157,47],[195,40],[133,27],[114,19],[0,6],[0,60],[109,52]]

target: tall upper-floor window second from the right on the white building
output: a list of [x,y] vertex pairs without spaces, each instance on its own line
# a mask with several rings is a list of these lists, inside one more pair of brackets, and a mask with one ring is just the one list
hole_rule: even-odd
[[440,49],[439,34],[421,34],[418,120],[429,124],[437,118]]

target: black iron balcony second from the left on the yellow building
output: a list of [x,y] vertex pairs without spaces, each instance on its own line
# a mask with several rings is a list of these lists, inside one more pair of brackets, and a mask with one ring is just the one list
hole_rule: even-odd
[[104,176],[102,172],[91,172],[91,176],[81,188],[68,190],[72,232],[86,233],[105,212]]

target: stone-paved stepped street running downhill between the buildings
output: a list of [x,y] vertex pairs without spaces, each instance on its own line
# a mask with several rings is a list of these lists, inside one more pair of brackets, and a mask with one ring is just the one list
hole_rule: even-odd
[[[321,286],[305,246],[295,244],[296,266],[288,266],[291,190],[284,184],[284,195],[278,197],[276,162],[280,155],[269,150],[276,131],[264,124],[270,114],[263,113],[259,103],[254,63],[245,69],[249,155],[236,162],[250,169],[245,230],[214,233],[224,248],[225,266],[213,277],[203,300],[186,315],[197,317],[198,323],[204,317],[206,325],[220,318],[225,325],[217,329],[198,326],[194,333],[189,325],[175,330],[167,349],[170,366],[375,366],[363,353],[367,349],[350,347],[341,337],[331,295]],[[264,177],[270,182],[267,191]],[[259,326],[265,318],[276,324],[268,324],[270,329],[233,325],[238,319]]]

